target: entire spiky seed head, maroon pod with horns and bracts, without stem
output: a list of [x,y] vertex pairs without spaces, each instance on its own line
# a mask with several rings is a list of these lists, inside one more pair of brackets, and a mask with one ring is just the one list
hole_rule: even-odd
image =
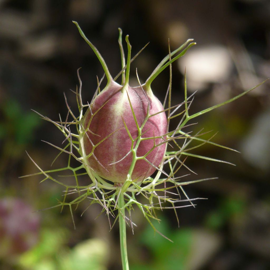
[[[111,216],[114,218],[119,217],[121,220],[124,219],[125,222],[130,223],[131,228],[133,228],[134,223],[131,221],[130,213],[134,205],[138,206],[150,224],[150,218],[157,219],[155,214],[156,209],[173,208],[176,213],[176,208],[193,205],[192,201],[198,198],[189,199],[182,186],[213,178],[187,182],[181,181],[184,175],[176,176],[176,173],[183,166],[188,168],[184,164],[186,158],[192,156],[215,162],[229,162],[199,156],[190,153],[190,151],[205,143],[225,149],[230,148],[211,142],[210,139],[213,136],[210,137],[209,140],[204,140],[199,138],[202,134],[196,133],[192,135],[186,133],[184,128],[191,119],[238,99],[264,82],[230,100],[189,115],[188,110],[192,100],[191,97],[187,97],[186,81],[184,102],[176,106],[171,106],[170,100],[171,63],[183,56],[187,50],[195,44],[191,42],[191,39],[187,40],[187,42],[173,52],[169,50],[169,54],[160,62],[146,82],[141,84],[138,78],[139,86],[131,88],[128,85],[130,63],[138,54],[131,59],[131,46],[128,41],[128,36],[126,37],[128,59],[127,65],[125,65],[122,32],[120,31],[119,44],[122,56],[122,70],[119,72],[119,75],[122,75],[122,83],[119,85],[112,79],[106,63],[98,50],[85,37],[79,25],[76,22],[74,23],[102,64],[107,78],[107,85],[105,89],[98,94],[101,80],[98,83],[93,101],[83,104],[81,95],[82,82],[78,72],[80,86],[79,89],[76,89],[76,92],[73,92],[76,95],[79,116],[76,116],[76,114],[72,112],[66,98],[68,114],[64,121],[61,118],[60,121],[53,121],[39,114],[43,119],[58,127],[64,134],[64,142],[66,143],[64,148],[54,146],[51,143],[48,144],[60,150],[57,157],[62,153],[68,154],[68,164],[64,168],[43,171],[31,158],[40,171],[32,175],[43,174],[45,178],[42,181],[50,179],[65,187],[63,200],[59,201],[59,204],[55,205],[55,207],[68,205],[72,214],[73,204],[78,205],[81,201],[88,199],[89,206],[92,203],[99,203],[102,206],[102,212],[105,211],[108,218]],[[171,58],[175,54],[177,54],[177,56]],[[168,66],[170,66],[170,82],[166,94],[166,97],[168,96],[168,107],[163,110],[163,106],[153,95],[150,85],[158,74]],[[85,109],[87,109],[87,112],[84,117]],[[69,120],[70,117],[72,117],[72,120]],[[168,124],[170,119],[174,117],[179,117],[179,124],[175,130],[170,131]],[[70,129],[72,126],[75,126],[75,129]],[[76,132],[73,133],[71,130],[76,130]],[[188,148],[191,141],[198,142],[199,144]],[[168,144],[172,147],[170,151],[166,150]],[[77,167],[70,165],[71,158],[74,158],[79,163]],[[164,171],[163,168],[166,163],[169,165],[167,172]],[[127,168],[127,164],[130,164],[129,168]],[[124,167],[123,171],[121,171],[121,166]],[[60,181],[59,179],[57,180],[53,176],[53,173],[66,170],[71,171],[70,176],[75,180],[73,185],[66,184],[65,181]],[[155,170],[157,173],[152,178],[151,174]],[[190,169],[188,168],[188,170]],[[192,172],[192,170],[190,171]],[[89,184],[87,185],[81,185],[80,183],[80,178],[84,176],[89,177],[89,181],[87,181]],[[65,176],[65,178],[67,177],[68,176]],[[121,183],[114,185],[111,181]],[[174,192],[171,191],[172,188],[175,188]],[[180,190],[178,190],[179,188]],[[186,200],[181,199],[180,191],[187,197]],[[76,198],[72,197],[72,199],[67,202],[67,197],[72,194],[78,194],[78,196]],[[149,203],[140,203],[137,200],[137,195],[139,194],[143,195]],[[121,199],[120,204],[118,203],[119,198]],[[190,204],[178,205],[178,203],[181,204],[186,201]],[[165,202],[169,202],[171,206],[167,206],[167,204],[164,204]],[[123,209],[128,210],[129,218],[123,214]],[[118,212],[116,215],[114,214],[115,210]],[[121,215],[121,217],[119,215]]]

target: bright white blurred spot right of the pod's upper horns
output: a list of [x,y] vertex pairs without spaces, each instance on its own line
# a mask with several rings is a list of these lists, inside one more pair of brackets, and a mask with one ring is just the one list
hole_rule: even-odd
[[178,60],[184,74],[187,67],[188,90],[204,89],[208,83],[224,82],[230,76],[232,59],[228,49],[221,45],[195,48]]

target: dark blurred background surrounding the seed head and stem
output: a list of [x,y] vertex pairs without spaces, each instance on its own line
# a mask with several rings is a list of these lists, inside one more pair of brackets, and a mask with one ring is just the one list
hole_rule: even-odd
[[[40,176],[25,151],[43,170],[58,153],[41,140],[61,145],[62,134],[31,109],[58,120],[65,118],[80,70],[83,101],[91,101],[96,75],[103,71],[72,20],[98,48],[112,76],[121,67],[118,27],[129,34],[134,56],[131,65],[145,81],[171,50],[188,38],[197,45],[173,64],[173,103],[184,99],[183,73],[187,67],[188,94],[195,91],[192,113],[223,102],[270,77],[270,2],[268,0],[191,1],[0,1],[0,269],[66,270],[121,269],[118,224],[110,231],[99,205],[82,203],[73,212],[52,207],[63,188]],[[126,46],[124,46],[125,52]],[[162,101],[169,70],[152,89]],[[197,118],[215,143],[241,154],[204,145],[197,153],[236,166],[188,158],[198,175],[185,180],[218,177],[185,186],[190,198],[204,197],[196,208],[159,212],[154,234],[136,209],[134,235],[127,231],[130,269],[264,270],[270,269],[270,91],[269,81],[241,99]],[[173,127],[177,123],[172,123]],[[65,166],[61,155],[59,164]],[[57,166],[56,165],[56,166]],[[184,170],[180,175],[189,173]],[[68,207],[67,207],[68,208]]]

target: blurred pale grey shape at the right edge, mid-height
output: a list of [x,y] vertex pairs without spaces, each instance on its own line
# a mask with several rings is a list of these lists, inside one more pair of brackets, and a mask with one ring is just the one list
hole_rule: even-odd
[[270,164],[270,110],[259,115],[247,137],[241,144],[245,160],[263,171]]

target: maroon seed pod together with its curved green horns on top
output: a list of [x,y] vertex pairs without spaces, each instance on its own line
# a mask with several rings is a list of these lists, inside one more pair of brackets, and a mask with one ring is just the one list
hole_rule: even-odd
[[[160,72],[183,56],[195,43],[190,43],[192,40],[189,39],[173,52],[169,50],[169,54],[160,62],[145,83],[140,83],[137,74],[138,86],[130,87],[130,64],[140,52],[131,59],[131,45],[128,35],[126,36],[128,50],[126,63],[122,46],[122,31],[119,28],[118,42],[122,70],[113,79],[99,51],[86,38],[78,23],[74,23],[83,39],[99,59],[106,75],[107,85],[100,91],[99,83],[97,88],[99,94],[97,95],[96,91],[92,102],[88,103],[88,106],[83,105],[81,97],[82,84],[78,73],[80,88],[77,102],[80,116],[76,118],[73,113],[72,116],[74,123],[79,124],[79,127],[77,127],[79,134],[70,133],[69,137],[76,137],[79,147],[75,146],[70,139],[70,152],[72,152],[72,147],[77,149],[81,156],[77,160],[82,163],[93,184],[95,186],[100,185],[102,188],[114,189],[121,186],[122,183],[126,183],[123,187],[124,192],[131,183],[134,183],[135,186],[137,183],[139,185],[146,183],[144,180],[148,181],[156,170],[159,170],[159,173],[155,176],[153,185],[159,178],[160,173],[170,178],[163,171],[167,143],[172,140],[168,136],[170,102],[168,103],[169,108],[164,110],[163,105],[151,90],[151,83]],[[180,52],[181,50],[182,52]],[[171,58],[175,54],[177,56]],[[122,76],[121,84],[116,82],[120,75]],[[171,87],[169,87],[168,92],[170,99]],[[83,114],[83,109],[86,106],[88,109]],[[166,111],[168,111],[168,116]],[[64,128],[66,128],[66,124],[64,124]],[[115,184],[107,183],[106,180]]]

